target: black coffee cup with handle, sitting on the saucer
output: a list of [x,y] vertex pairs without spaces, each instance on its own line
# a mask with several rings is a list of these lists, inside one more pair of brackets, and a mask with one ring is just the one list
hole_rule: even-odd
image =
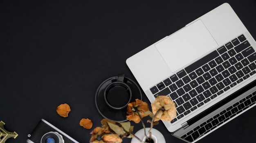
[[105,102],[110,108],[126,108],[132,98],[130,87],[124,83],[124,74],[119,74],[116,82],[110,83],[104,91]]

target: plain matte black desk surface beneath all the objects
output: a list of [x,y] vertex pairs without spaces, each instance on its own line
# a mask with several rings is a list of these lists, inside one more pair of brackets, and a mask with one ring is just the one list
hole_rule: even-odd
[[[43,118],[81,143],[90,131],[81,118],[100,126],[94,106],[99,84],[119,73],[135,80],[125,61],[155,41],[229,2],[256,38],[256,0],[0,1],[0,120],[24,143]],[[145,94],[144,101],[148,102]],[[68,103],[67,118],[56,113]],[[198,143],[255,143],[256,108]],[[135,131],[142,128],[137,124]],[[164,124],[155,126],[167,143],[183,143]],[[124,139],[124,143],[130,139]]]

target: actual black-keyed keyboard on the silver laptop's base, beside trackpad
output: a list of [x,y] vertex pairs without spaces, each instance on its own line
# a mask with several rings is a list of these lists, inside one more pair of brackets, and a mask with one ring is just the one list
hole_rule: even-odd
[[[256,52],[244,35],[150,88],[156,98],[167,95],[175,102],[178,119],[222,95],[256,73]],[[255,61],[255,62],[254,62]]]

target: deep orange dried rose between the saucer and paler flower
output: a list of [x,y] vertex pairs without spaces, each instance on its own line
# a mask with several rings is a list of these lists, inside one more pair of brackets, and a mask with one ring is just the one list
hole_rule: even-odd
[[136,99],[136,102],[131,102],[128,104],[128,107],[127,107],[128,116],[126,116],[126,118],[129,121],[134,121],[135,123],[139,123],[141,120],[140,117],[143,118],[148,116],[148,114],[145,114],[146,111],[149,111],[148,104],[139,99]]

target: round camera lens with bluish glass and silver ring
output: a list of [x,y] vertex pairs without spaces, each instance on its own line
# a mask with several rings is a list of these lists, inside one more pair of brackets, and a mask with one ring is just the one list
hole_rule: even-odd
[[48,132],[43,135],[41,143],[64,143],[64,140],[58,132]]

